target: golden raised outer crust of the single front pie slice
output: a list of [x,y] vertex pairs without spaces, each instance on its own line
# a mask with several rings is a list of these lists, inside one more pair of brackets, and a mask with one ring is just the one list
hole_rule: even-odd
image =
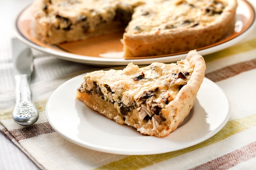
[[193,50],[188,53],[186,59],[193,64],[194,70],[187,84],[180,89],[175,99],[167,104],[166,109],[162,110],[166,115],[175,115],[169,125],[171,130],[163,131],[162,136],[166,136],[177,129],[177,126],[189,114],[204,79],[204,72],[206,70],[204,58],[196,50]]

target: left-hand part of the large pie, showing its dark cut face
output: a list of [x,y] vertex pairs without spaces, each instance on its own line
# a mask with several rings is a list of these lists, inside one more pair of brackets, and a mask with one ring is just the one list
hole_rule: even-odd
[[[54,5],[52,5],[53,2],[55,2]],[[101,6],[105,2],[99,1],[99,9],[96,7],[90,9],[85,6],[85,3],[79,4],[83,0],[63,0],[63,2],[55,0],[53,2],[51,0],[34,0],[31,4],[32,29],[38,40],[57,45],[124,31],[134,6],[140,4],[115,3],[112,7],[104,9]],[[76,15],[70,14],[70,11],[77,13]],[[100,13],[100,11],[103,12]],[[109,15],[114,16],[111,18]],[[106,20],[108,17],[111,19]]]

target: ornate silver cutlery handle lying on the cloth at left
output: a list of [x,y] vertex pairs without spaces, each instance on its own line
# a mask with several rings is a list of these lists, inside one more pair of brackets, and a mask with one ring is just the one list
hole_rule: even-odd
[[16,106],[13,119],[17,124],[28,126],[34,124],[39,117],[38,110],[32,102],[32,92],[29,86],[29,75],[16,75]]

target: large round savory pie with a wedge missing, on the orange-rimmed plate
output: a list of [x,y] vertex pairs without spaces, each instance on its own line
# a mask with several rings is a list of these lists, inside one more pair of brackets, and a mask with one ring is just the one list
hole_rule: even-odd
[[49,44],[124,31],[124,57],[198,49],[234,31],[236,0],[35,0],[34,32]]

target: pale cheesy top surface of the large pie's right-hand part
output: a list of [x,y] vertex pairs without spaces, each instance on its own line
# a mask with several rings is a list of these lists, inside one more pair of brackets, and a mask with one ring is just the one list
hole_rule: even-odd
[[126,32],[141,33],[204,26],[217,21],[226,6],[227,2],[224,0],[149,1],[135,9]]

